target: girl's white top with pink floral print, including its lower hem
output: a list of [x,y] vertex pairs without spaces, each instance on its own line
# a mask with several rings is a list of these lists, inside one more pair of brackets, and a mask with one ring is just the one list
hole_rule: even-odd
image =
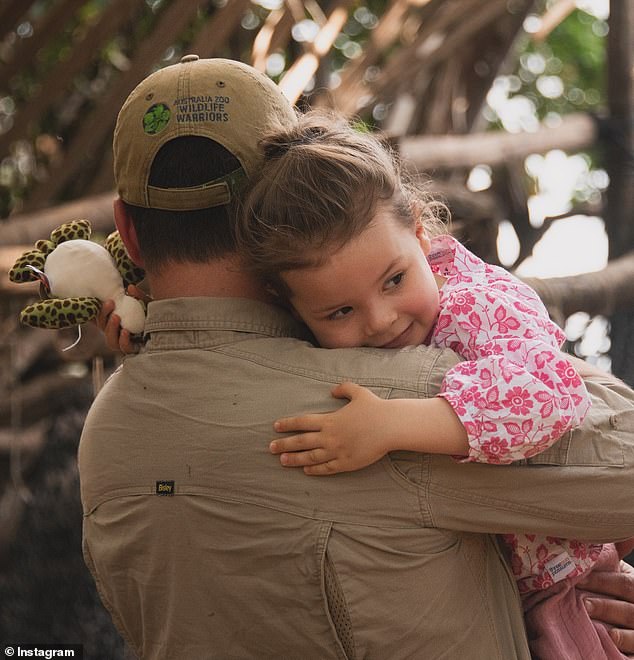
[[[530,458],[578,426],[590,398],[537,294],[451,236],[433,239],[428,260],[446,278],[429,343],[465,359],[447,372],[439,394],[467,431],[469,454],[461,460]],[[587,572],[602,547],[534,534],[504,539],[521,592]]]

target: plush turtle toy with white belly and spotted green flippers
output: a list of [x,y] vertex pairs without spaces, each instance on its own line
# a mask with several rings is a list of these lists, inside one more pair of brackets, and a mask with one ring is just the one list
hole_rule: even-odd
[[37,241],[9,271],[12,282],[40,281],[42,300],[25,307],[20,321],[34,328],[67,328],[94,319],[104,300],[114,300],[121,326],[132,334],[143,331],[145,307],[126,295],[144,272],[132,263],[118,232],[105,247],[89,240],[90,223],[73,220]]

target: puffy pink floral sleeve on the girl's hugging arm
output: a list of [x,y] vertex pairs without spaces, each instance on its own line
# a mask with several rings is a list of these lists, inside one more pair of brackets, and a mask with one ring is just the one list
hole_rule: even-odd
[[564,339],[522,282],[448,292],[434,343],[466,360],[447,372],[439,394],[467,431],[469,454],[456,458],[496,464],[529,458],[581,423],[590,397],[560,351]]

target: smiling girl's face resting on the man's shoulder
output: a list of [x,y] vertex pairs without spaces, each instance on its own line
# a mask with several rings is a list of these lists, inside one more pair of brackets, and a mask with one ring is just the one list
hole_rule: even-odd
[[422,228],[389,205],[359,236],[314,268],[282,274],[290,302],[324,348],[402,348],[425,342],[438,316],[443,278],[427,262]]

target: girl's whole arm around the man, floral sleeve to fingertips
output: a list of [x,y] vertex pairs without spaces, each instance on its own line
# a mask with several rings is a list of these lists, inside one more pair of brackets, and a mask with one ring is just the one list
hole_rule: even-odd
[[563,332],[537,294],[513,278],[470,284],[445,295],[434,344],[466,358],[435,399],[382,400],[346,384],[336,413],[280,420],[271,451],[307,474],[365,467],[388,451],[449,454],[504,464],[534,456],[578,426],[590,406],[585,386],[559,346]]

